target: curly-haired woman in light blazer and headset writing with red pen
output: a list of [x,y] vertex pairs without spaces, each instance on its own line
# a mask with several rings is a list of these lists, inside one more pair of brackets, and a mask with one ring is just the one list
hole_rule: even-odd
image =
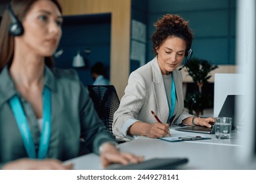
[[[116,137],[150,138],[169,134],[171,124],[211,127],[213,118],[198,118],[184,110],[182,75],[177,69],[192,54],[192,31],[188,22],[175,14],[164,15],[152,35],[154,59],[129,76],[125,95],[114,114]],[[156,120],[156,116],[159,122]]]

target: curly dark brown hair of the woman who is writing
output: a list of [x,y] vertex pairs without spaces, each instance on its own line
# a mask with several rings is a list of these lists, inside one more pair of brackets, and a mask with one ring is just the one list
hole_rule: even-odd
[[167,38],[175,36],[186,41],[185,56],[187,56],[193,39],[192,31],[188,27],[188,21],[183,20],[181,16],[176,14],[165,14],[154,26],[156,27],[156,31],[154,31],[152,35],[152,51],[154,54],[158,54],[156,49],[159,48]]

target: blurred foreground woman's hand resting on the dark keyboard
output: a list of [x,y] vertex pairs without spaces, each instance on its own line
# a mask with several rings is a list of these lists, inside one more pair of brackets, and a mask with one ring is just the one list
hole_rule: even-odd
[[100,150],[100,161],[103,167],[107,167],[112,163],[121,163],[122,165],[136,164],[143,161],[143,157],[135,156],[129,152],[119,152],[114,144],[106,142],[102,145],[102,150]]

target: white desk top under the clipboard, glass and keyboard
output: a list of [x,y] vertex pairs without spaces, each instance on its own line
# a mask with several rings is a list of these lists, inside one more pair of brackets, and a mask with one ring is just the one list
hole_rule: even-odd
[[[167,142],[160,139],[140,138],[119,144],[122,152],[131,152],[144,159],[188,158],[188,163],[179,169],[256,169],[256,165],[243,165],[238,161],[236,137],[239,131],[232,131],[230,140],[215,139],[214,134],[188,133],[171,129],[171,134],[182,137],[192,135],[209,136],[212,139],[199,141]],[[87,154],[67,162],[74,163],[74,169],[102,169],[95,154]]]

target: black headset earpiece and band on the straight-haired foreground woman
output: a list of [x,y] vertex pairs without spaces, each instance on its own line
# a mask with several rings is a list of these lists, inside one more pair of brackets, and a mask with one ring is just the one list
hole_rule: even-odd
[[16,18],[14,12],[12,11],[11,3],[7,5],[7,11],[9,12],[9,15],[11,17],[11,25],[9,27],[9,33],[12,36],[20,36],[24,33],[24,28],[22,26],[22,23],[18,18]]

